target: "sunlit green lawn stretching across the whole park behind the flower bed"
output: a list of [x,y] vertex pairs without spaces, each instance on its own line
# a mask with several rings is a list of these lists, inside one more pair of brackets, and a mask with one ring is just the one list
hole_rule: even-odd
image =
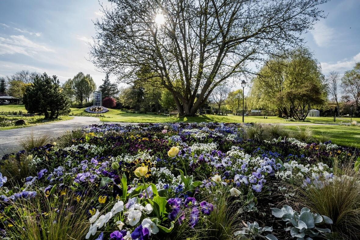
[[[26,112],[23,105],[0,105],[1,111],[23,111]],[[126,113],[121,110],[109,109],[109,112],[103,114],[90,114],[86,113],[85,108],[77,109],[71,108],[70,115],[82,115],[82,116],[94,116],[99,117],[101,121],[104,122],[135,122],[135,123],[157,123],[157,122],[242,122],[242,116],[217,116],[217,115],[203,115],[198,117],[167,117],[163,115],[152,115],[152,114],[134,114],[134,113]],[[63,119],[67,119],[68,117],[62,117]],[[332,117],[308,117],[307,119],[310,122],[307,123],[333,123]],[[360,118],[352,118],[352,121],[360,122]],[[303,123],[303,122],[288,122],[283,118],[279,117],[257,117],[257,116],[248,116],[245,117],[245,122],[256,122],[256,123],[285,123],[289,124],[285,126],[289,130],[296,130],[297,126],[294,126],[295,123]],[[350,118],[336,118],[336,123],[350,123]],[[37,123],[29,123],[31,126],[34,124],[40,124],[41,120],[37,121]],[[290,124],[292,123],[292,124]],[[338,145],[343,146],[356,146],[360,148],[360,127],[352,127],[352,126],[339,126],[339,125],[299,125],[300,128],[309,127],[310,130],[314,133],[314,137],[320,137],[322,134],[329,135],[330,139]],[[0,130],[15,128],[15,127],[5,127],[0,128]]]

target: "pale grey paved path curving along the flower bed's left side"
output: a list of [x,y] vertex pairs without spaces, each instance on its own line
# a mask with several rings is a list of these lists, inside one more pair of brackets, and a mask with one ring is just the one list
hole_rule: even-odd
[[102,122],[100,122],[99,118],[95,117],[73,117],[73,119],[65,121],[0,131],[0,157],[6,153],[13,153],[20,150],[19,140],[26,139],[31,133],[35,136],[38,134],[46,134],[52,139],[56,139],[67,130],[74,130],[76,128],[100,123]]

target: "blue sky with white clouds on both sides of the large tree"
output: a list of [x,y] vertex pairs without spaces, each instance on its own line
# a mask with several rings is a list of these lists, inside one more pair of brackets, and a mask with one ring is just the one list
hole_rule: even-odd
[[[332,0],[320,8],[327,18],[303,35],[305,45],[325,75],[342,74],[360,62],[360,0]],[[101,85],[105,73],[88,60],[87,45],[99,10],[98,0],[0,0],[0,76],[28,69],[64,82],[81,71]]]

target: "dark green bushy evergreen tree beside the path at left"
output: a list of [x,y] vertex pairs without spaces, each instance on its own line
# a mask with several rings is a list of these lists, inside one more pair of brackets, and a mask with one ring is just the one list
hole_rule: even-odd
[[26,88],[23,102],[29,113],[44,114],[45,118],[58,118],[70,112],[69,98],[60,88],[59,80],[46,73],[36,76],[32,85]]

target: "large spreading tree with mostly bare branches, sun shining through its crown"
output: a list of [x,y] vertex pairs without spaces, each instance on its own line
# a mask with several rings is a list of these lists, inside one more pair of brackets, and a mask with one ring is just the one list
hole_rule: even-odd
[[301,43],[327,1],[109,0],[90,52],[99,69],[166,88],[193,116],[222,81],[250,73],[249,62]]

